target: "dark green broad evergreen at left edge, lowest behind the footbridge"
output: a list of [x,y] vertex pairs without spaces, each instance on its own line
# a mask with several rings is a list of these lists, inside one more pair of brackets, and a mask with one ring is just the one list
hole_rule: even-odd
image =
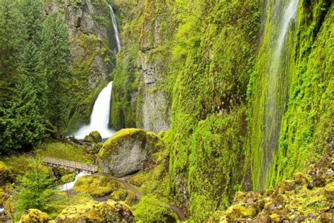
[[20,79],[18,89],[20,91],[8,102],[8,107],[0,107],[0,155],[30,149],[44,133],[36,91],[26,76]]

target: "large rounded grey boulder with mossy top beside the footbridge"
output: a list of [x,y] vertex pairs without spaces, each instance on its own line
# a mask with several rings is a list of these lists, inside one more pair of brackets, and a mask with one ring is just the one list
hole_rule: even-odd
[[106,140],[97,156],[99,170],[121,177],[142,169],[151,155],[163,147],[154,133],[125,128]]

